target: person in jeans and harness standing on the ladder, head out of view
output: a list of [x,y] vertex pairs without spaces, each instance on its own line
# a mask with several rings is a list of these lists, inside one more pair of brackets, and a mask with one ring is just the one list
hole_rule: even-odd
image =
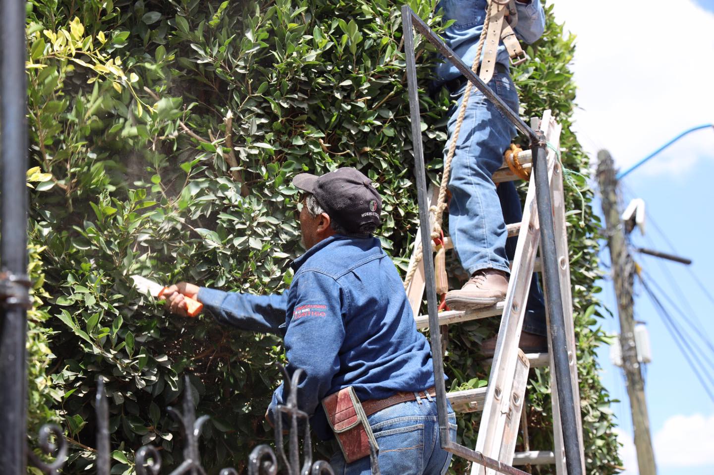
[[[473,71],[518,112],[509,57],[514,64],[523,62],[526,55],[518,39],[530,44],[543,34],[545,14],[540,1],[441,0],[439,8],[444,21],[454,20],[442,34],[446,44],[466,64],[473,64]],[[521,201],[513,182],[497,189],[492,176],[503,164],[503,152],[516,128],[450,62],[438,65],[436,76],[437,84],[446,86],[456,101],[444,150],[445,174],[451,165],[448,227],[461,264],[471,275],[461,289],[449,291],[445,301],[454,310],[478,309],[503,301],[508,289],[509,257],[513,257],[516,238],[507,244],[505,219],[521,221]],[[521,349],[546,351],[545,330],[543,296],[538,279],[533,279]],[[495,337],[484,341],[482,352],[490,356],[495,346]]]

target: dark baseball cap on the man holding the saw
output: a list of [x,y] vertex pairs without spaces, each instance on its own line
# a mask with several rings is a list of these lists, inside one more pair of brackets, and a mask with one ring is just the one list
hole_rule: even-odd
[[357,169],[345,167],[321,176],[301,173],[293,178],[293,185],[313,194],[330,218],[347,231],[361,233],[364,224],[376,229],[382,222],[382,198]]

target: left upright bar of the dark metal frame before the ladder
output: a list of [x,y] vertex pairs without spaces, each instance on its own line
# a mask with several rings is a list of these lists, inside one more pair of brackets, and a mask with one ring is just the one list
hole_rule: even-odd
[[434,256],[431,253],[431,224],[426,206],[426,171],[424,152],[421,144],[421,114],[419,114],[419,91],[416,84],[416,59],[414,58],[414,31],[412,10],[402,6],[402,29],[404,34],[404,55],[406,56],[406,78],[409,88],[409,109],[411,112],[411,140],[413,143],[416,191],[419,201],[419,226],[421,226],[421,249],[423,254],[424,278],[426,280],[426,306],[429,312],[429,334],[431,356],[434,366],[434,387],[439,419],[439,441],[442,447],[450,444],[448,416],[446,410],[446,383],[444,382],[443,353],[439,334],[438,305],[436,304],[436,279],[434,278]]

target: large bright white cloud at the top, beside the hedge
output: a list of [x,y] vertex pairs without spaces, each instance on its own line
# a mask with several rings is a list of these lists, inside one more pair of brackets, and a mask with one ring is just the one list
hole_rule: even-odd
[[[714,122],[714,14],[690,0],[549,0],[578,36],[575,131],[590,154],[607,148],[620,167]],[[686,25],[686,26],[684,26]],[[714,131],[676,144],[638,174],[683,172],[714,160]]]

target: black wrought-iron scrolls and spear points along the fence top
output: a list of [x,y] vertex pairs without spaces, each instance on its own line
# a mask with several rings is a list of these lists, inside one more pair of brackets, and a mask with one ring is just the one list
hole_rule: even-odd
[[[285,394],[287,404],[278,405],[276,410],[275,441],[278,456],[266,444],[257,446],[248,458],[248,475],[277,475],[280,465],[286,475],[334,475],[332,467],[326,461],[312,460],[312,442],[308,424],[308,415],[298,409],[298,381],[303,374],[298,369],[292,378],[288,376],[285,368],[281,367],[284,376]],[[181,411],[166,408],[174,416],[181,427],[183,435],[183,462],[169,475],[206,475],[201,465],[201,453],[198,449],[198,439],[201,437],[203,424],[210,419],[201,416],[196,419],[196,410],[193,407],[193,389],[188,376],[184,379],[183,401]],[[109,406],[104,394],[104,381],[97,381],[95,410],[97,419],[96,429],[96,474],[109,475],[111,472],[111,449],[109,446]],[[288,420],[289,428],[283,429],[283,421]],[[284,434],[283,434],[284,431]],[[299,435],[303,436],[303,464],[300,464]],[[286,455],[283,436],[288,436],[288,454]],[[39,431],[38,446],[41,452],[54,459],[45,461],[28,449],[29,463],[47,475],[59,475],[67,461],[67,440],[62,429],[55,424],[46,424]],[[289,456],[288,456],[289,455]],[[152,445],[141,447],[134,454],[134,463],[137,475],[159,475],[161,471],[161,454],[159,449]],[[378,474],[377,472],[374,472]],[[236,469],[223,469],[220,475],[238,475]]]

